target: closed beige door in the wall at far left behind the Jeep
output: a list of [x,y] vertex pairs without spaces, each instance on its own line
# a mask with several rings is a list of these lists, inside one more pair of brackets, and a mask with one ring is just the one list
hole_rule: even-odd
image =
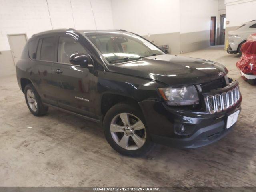
[[23,48],[28,38],[26,34],[11,34],[7,36],[8,36],[11,52],[12,52],[12,58],[13,58],[14,64],[16,65],[16,63],[20,59]]

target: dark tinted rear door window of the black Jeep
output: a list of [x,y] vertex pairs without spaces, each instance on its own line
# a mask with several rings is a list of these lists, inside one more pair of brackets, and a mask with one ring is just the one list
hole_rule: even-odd
[[54,53],[55,53],[55,37],[43,38],[41,53],[40,53],[40,60],[54,61]]

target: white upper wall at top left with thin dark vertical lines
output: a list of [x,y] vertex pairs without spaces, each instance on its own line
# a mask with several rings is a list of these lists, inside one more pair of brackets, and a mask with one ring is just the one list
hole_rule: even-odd
[[52,28],[112,29],[111,1],[91,0],[91,4],[90,0],[0,0],[0,51],[10,50],[7,34],[26,33],[30,38]]

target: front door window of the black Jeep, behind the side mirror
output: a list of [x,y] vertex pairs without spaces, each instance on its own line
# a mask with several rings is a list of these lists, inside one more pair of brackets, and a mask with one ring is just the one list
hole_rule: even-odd
[[69,58],[74,53],[87,53],[82,45],[72,37],[60,36],[58,44],[58,62],[70,63]]

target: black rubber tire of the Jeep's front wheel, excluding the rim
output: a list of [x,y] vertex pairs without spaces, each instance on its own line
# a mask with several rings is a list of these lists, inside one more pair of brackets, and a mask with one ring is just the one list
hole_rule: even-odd
[[[110,132],[110,123],[111,123],[112,119],[114,118],[114,116],[116,116],[117,114],[120,114],[120,113],[133,114],[133,115],[137,116],[143,122],[143,124],[146,128],[147,137],[146,137],[146,142],[144,143],[144,145],[141,148],[139,148],[137,150],[126,150],[126,149],[120,147],[112,138],[112,135]],[[148,131],[146,121],[144,120],[144,116],[142,115],[142,112],[140,111],[140,109],[136,108],[136,106],[132,106],[132,105],[129,105],[126,103],[120,103],[120,104],[116,104],[115,106],[110,108],[110,110],[108,110],[108,112],[106,113],[106,115],[104,117],[103,129],[104,129],[104,134],[105,134],[106,140],[108,141],[110,146],[114,150],[119,152],[120,154],[127,155],[127,156],[140,156],[140,155],[148,152],[148,150],[152,146],[152,142],[150,139],[150,133]]]

